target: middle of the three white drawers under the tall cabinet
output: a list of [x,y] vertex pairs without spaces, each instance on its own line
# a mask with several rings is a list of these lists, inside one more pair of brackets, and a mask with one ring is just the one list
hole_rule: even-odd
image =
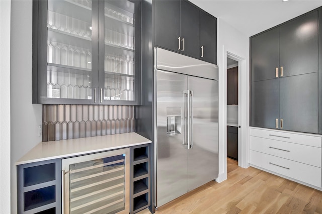
[[250,136],[251,150],[321,167],[321,148]]

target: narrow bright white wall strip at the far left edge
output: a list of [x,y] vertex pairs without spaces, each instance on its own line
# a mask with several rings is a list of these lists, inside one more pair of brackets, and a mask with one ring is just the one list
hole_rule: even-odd
[[0,213],[10,213],[10,7],[0,1]]

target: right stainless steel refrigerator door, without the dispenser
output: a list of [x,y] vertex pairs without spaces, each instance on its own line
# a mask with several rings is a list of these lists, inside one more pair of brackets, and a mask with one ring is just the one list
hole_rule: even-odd
[[188,191],[218,177],[218,81],[188,77],[193,91],[193,148],[188,150]]

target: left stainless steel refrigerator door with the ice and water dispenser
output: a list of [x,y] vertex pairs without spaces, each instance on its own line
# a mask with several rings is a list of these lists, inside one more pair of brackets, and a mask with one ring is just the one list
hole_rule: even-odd
[[188,150],[183,145],[187,83],[187,75],[156,71],[156,206],[188,192]]

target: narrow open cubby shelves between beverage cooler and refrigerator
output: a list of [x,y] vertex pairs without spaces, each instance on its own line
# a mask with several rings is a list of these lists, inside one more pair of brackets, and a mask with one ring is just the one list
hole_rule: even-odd
[[150,205],[150,145],[131,147],[130,213]]

